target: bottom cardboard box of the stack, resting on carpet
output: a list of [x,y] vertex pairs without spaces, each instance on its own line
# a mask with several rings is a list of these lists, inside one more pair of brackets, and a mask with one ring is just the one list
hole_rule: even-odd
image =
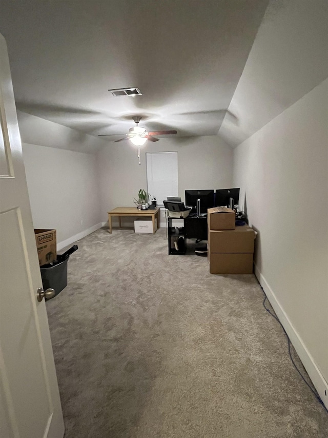
[[252,274],[253,253],[209,253],[211,274]]

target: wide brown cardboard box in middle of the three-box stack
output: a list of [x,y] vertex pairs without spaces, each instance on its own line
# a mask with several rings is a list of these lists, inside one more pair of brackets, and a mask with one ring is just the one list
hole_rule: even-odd
[[255,232],[248,225],[235,230],[209,230],[211,253],[253,253]]

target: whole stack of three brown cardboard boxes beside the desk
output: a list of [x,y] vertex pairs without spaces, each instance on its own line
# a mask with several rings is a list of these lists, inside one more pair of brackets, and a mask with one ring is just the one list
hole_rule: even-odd
[[254,230],[248,225],[235,227],[230,208],[208,210],[208,258],[211,274],[252,274]]

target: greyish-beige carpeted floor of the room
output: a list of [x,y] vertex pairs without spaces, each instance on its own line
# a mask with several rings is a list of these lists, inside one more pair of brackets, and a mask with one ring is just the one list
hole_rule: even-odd
[[66,438],[328,436],[254,276],[169,256],[163,229],[77,244],[47,302]]

